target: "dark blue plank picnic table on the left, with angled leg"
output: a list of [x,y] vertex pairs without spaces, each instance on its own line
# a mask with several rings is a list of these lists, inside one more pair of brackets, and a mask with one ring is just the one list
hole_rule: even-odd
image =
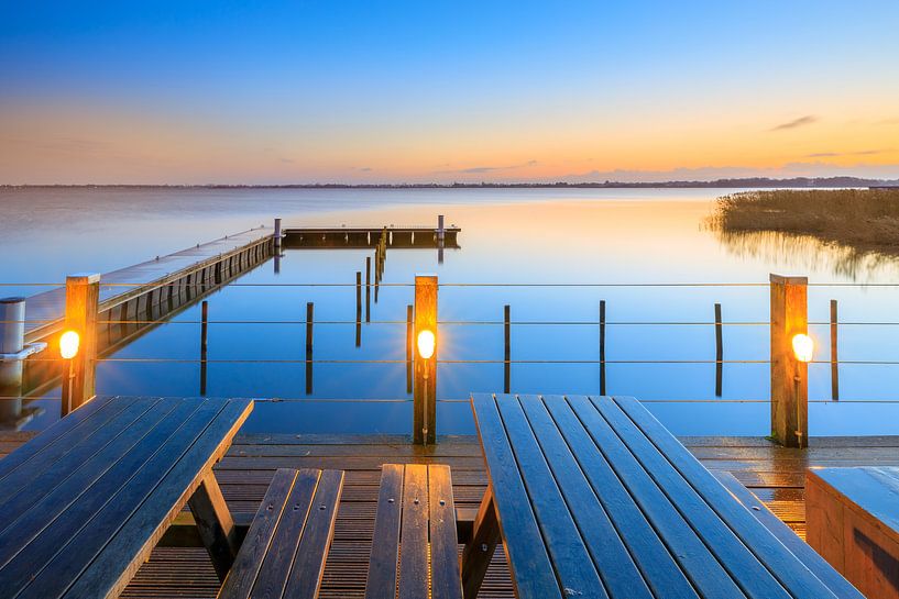
[[252,408],[98,397],[0,459],[0,595],[116,597],[188,502],[223,578],[239,545],[212,465]]

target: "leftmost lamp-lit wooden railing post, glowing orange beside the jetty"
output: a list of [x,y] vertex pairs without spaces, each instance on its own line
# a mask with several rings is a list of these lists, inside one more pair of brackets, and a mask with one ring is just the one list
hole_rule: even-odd
[[78,333],[78,353],[66,360],[63,373],[62,415],[66,415],[96,395],[97,307],[100,275],[77,274],[66,277],[65,330]]

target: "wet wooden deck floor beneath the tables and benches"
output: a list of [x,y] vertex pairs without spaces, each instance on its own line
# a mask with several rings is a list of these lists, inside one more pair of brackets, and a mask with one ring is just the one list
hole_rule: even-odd
[[[0,433],[0,456],[33,433]],[[683,437],[711,470],[727,470],[749,487],[801,536],[805,533],[803,473],[809,466],[899,466],[899,436],[812,439],[809,450],[788,450],[758,437]],[[403,436],[239,435],[216,473],[229,506],[253,512],[274,469],[347,470],[337,532],[325,572],[322,597],[362,597],[374,524],[380,465],[440,463],[452,467],[457,507],[475,508],[486,485],[473,436],[441,439],[434,447]],[[157,547],[123,597],[215,597],[218,581],[202,547]],[[487,573],[482,597],[513,597],[502,552]]]

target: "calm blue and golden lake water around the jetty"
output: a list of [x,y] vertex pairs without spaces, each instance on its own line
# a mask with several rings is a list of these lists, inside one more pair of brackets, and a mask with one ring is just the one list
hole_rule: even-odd
[[[504,304],[514,323],[567,323],[513,324],[512,359],[525,362],[512,365],[514,392],[599,392],[595,323],[605,300],[610,393],[649,402],[677,434],[763,435],[769,432],[768,365],[755,362],[768,358],[761,324],[768,275],[809,276],[812,322],[827,321],[831,299],[840,302],[841,321],[899,322],[899,288],[889,286],[899,282],[899,263],[810,239],[724,239],[703,219],[713,200],[731,191],[3,189],[0,282],[18,285],[0,295],[39,292],[45,288],[23,284],[109,271],[274,217],[287,226],[352,226],[436,223],[440,213],[461,226],[461,249],[446,251],[442,263],[436,251],[390,251],[384,282],[397,285],[382,287],[361,347],[354,287],[303,285],[353,284],[372,252],[286,251],[279,274],[268,260],[209,297],[209,359],[238,362],[209,364],[207,393],[283,400],[260,402],[245,428],[251,431],[408,433],[406,367],[393,360],[405,358],[413,278],[436,273],[441,284],[453,284],[439,298],[440,320],[454,323],[440,329],[441,434],[473,432],[469,392],[502,391],[496,360],[503,359]],[[315,359],[335,362],[315,365],[309,395],[303,324],[216,323],[303,321],[308,301],[317,321],[337,322],[316,325]],[[715,302],[723,307],[724,358],[735,362],[724,365],[721,397],[708,363],[715,357]],[[110,356],[147,362],[101,363],[98,392],[199,395],[198,320],[199,306],[191,307]],[[667,324],[642,324],[650,322]],[[840,357],[899,362],[896,332],[896,325],[843,325]],[[829,326],[812,325],[811,333],[815,359],[829,359]],[[153,362],[160,358],[184,362]],[[899,433],[899,406],[890,402],[899,400],[898,368],[841,366],[837,403],[827,401],[830,365],[811,365],[811,433]],[[29,428],[57,418],[58,396],[57,388],[34,403],[46,412]]]

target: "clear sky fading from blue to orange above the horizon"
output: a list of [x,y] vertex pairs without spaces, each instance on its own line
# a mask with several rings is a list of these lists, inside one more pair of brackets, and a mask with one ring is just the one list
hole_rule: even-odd
[[899,178],[899,2],[0,0],[0,184]]

